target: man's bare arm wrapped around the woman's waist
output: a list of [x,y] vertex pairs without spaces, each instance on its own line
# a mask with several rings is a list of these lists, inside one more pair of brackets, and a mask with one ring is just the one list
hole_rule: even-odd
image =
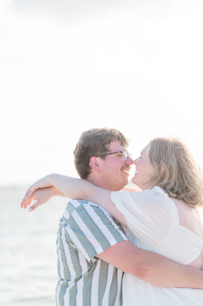
[[130,241],[118,242],[97,257],[152,285],[203,289],[202,271],[137,248]]

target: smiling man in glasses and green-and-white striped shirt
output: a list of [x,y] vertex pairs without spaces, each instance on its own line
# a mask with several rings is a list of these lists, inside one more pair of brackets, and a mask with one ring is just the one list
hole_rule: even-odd
[[[98,187],[121,190],[133,164],[127,147],[118,130],[83,132],[74,150],[78,174]],[[39,200],[32,209],[53,195],[63,194],[54,187],[38,189],[33,197]],[[203,286],[201,271],[137,248],[105,210],[84,200],[68,203],[60,219],[57,250],[60,306],[122,305],[122,271],[163,287]]]

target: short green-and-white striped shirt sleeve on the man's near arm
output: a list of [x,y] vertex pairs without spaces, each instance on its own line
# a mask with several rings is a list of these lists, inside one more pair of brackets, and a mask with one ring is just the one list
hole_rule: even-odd
[[[77,206],[77,201],[74,205]],[[111,215],[91,202],[81,204],[78,201],[65,224],[65,232],[66,239],[88,261],[114,244],[128,240]]]

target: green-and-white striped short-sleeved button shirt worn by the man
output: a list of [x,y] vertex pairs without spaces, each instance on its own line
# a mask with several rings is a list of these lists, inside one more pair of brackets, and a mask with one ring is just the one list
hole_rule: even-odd
[[128,240],[100,206],[71,200],[57,233],[58,306],[121,306],[123,272],[95,256]]

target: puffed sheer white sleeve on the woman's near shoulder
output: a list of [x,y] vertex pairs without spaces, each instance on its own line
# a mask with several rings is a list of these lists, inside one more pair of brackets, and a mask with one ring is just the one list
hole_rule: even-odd
[[111,200],[138,241],[153,249],[169,234],[177,218],[169,196],[158,186],[141,192],[116,191]]

